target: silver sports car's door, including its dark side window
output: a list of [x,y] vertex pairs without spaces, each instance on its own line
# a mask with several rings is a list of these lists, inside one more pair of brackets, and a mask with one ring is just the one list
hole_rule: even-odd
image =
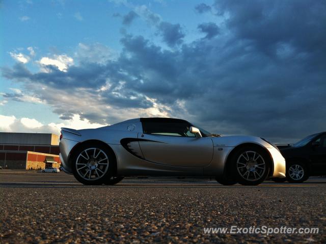
[[196,137],[189,132],[190,126],[180,121],[143,122],[143,133],[139,134],[139,143],[144,158],[151,162],[173,166],[208,165],[213,157],[212,139]]

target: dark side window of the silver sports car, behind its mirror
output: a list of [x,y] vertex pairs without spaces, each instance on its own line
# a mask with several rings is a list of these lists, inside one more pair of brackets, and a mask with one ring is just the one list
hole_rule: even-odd
[[195,137],[196,135],[191,133],[189,129],[190,125],[185,123],[143,122],[145,134]]

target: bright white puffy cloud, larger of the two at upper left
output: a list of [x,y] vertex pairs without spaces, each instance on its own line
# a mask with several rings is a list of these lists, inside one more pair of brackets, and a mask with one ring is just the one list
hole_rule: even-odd
[[66,72],[70,65],[73,65],[73,58],[67,55],[55,55],[53,58],[43,57],[41,58],[38,63],[42,67],[42,71],[49,72],[50,70],[46,68],[47,65],[54,65],[58,67],[60,71]]

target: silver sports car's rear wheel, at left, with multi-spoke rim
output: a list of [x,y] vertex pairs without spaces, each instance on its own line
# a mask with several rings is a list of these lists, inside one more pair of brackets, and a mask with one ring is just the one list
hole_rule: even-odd
[[72,173],[84,185],[103,184],[115,167],[113,153],[101,143],[84,144],[72,156]]

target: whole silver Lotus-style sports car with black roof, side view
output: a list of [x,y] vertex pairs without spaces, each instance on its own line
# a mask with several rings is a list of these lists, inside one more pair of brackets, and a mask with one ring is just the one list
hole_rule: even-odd
[[62,128],[63,170],[87,185],[124,176],[214,177],[224,185],[284,178],[275,145],[254,136],[219,136],[183,119],[135,118],[98,129]]

